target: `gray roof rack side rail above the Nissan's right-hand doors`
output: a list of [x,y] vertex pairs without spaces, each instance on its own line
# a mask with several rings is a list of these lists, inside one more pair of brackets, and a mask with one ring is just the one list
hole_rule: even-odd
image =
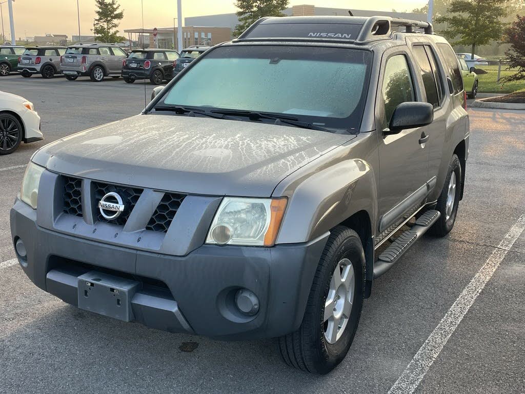
[[425,34],[434,34],[432,23],[421,20],[372,16],[363,24],[361,32],[355,42],[365,43],[390,37],[394,33],[392,30],[393,27],[405,28],[404,32],[399,33],[415,33],[414,29],[422,29]]

